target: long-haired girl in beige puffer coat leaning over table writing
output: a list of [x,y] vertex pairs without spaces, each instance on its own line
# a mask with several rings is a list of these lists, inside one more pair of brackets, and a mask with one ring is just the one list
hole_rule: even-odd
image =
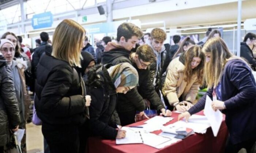
[[192,106],[203,82],[204,60],[201,47],[196,45],[170,62],[162,88],[162,93],[169,102],[167,106],[174,106],[180,112]]

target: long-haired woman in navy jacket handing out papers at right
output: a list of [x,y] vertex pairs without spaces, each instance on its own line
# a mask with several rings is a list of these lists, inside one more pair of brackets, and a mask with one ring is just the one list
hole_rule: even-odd
[[[203,47],[206,54],[206,82],[209,90],[178,120],[204,109],[206,96],[213,102],[213,110],[226,115],[229,139],[227,153],[237,153],[241,148],[250,152],[256,141],[256,83],[252,69],[240,57],[233,55],[221,38],[212,38]],[[239,125],[239,126],[238,126]]]

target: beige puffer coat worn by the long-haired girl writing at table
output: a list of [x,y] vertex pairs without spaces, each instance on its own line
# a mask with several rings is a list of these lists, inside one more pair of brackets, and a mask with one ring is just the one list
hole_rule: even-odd
[[185,66],[179,61],[179,58],[173,59],[167,67],[162,92],[167,97],[170,105],[179,102],[178,98],[180,96],[183,100],[191,101],[194,104],[200,83],[198,83],[196,75],[193,75],[192,80],[188,83],[185,82],[184,70]]

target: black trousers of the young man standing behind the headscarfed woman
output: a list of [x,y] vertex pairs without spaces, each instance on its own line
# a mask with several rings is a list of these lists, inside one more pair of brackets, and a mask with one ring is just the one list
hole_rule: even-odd
[[135,123],[136,111],[117,112],[122,126]]

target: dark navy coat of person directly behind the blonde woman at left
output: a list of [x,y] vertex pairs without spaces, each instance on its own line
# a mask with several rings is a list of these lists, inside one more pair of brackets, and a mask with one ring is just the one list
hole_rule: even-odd
[[50,46],[48,44],[48,42],[42,42],[41,45],[39,47],[36,48],[36,50],[34,51],[34,54],[32,56],[32,73],[34,75],[34,77],[36,78],[36,72],[37,72],[37,64],[39,63],[39,60],[41,58],[41,56],[44,54],[46,47]]

